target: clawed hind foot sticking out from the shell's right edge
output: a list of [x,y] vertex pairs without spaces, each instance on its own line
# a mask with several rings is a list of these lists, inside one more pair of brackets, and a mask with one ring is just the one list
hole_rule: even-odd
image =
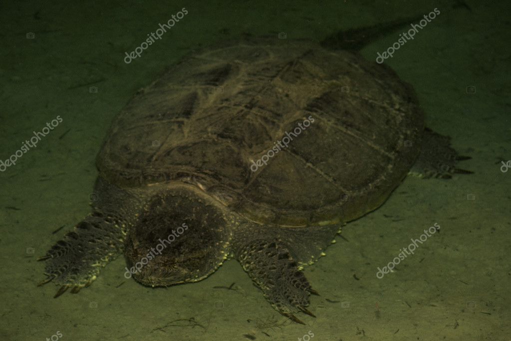
[[470,156],[458,155],[451,147],[451,138],[425,128],[421,153],[410,170],[410,175],[421,178],[450,179],[453,174],[473,172],[456,167],[458,161],[469,160]]

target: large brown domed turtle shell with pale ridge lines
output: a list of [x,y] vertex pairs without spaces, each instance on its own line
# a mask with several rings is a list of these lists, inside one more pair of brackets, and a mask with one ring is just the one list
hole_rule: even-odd
[[191,184],[262,224],[345,222],[380,206],[420,151],[413,89],[358,53],[275,40],[186,57],[138,92],[100,174],[122,187]]

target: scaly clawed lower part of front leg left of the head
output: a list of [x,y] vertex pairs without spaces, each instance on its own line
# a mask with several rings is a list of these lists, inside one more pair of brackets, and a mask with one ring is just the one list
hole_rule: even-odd
[[77,293],[89,286],[99,271],[122,251],[124,234],[112,217],[99,212],[86,217],[38,261],[45,261],[47,279],[38,286],[54,282],[61,285],[56,297],[68,288]]

